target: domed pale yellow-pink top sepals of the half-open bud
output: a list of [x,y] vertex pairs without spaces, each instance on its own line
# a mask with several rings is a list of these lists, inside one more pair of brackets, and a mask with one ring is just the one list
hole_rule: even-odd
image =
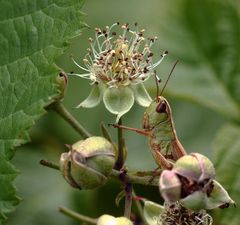
[[199,153],[191,153],[178,159],[173,166],[173,171],[196,182],[202,182],[215,177],[215,169],[212,162]]

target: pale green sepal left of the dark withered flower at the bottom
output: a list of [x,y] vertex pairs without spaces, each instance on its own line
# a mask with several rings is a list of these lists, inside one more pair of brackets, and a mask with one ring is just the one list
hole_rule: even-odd
[[148,225],[161,225],[160,214],[164,207],[151,201],[144,201],[143,216]]

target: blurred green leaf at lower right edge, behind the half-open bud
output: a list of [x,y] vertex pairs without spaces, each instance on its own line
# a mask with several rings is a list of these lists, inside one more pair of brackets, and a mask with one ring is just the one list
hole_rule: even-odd
[[[236,205],[240,204],[240,127],[224,126],[214,140],[214,162],[217,180],[227,190]],[[239,209],[230,207],[216,210],[214,219],[221,225],[238,225]]]

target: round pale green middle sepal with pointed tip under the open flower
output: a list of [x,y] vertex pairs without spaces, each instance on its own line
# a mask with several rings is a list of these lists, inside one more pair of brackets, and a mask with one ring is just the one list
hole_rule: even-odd
[[112,114],[117,114],[117,122],[127,113],[134,103],[133,91],[129,87],[108,88],[103,94],[105,107]]

